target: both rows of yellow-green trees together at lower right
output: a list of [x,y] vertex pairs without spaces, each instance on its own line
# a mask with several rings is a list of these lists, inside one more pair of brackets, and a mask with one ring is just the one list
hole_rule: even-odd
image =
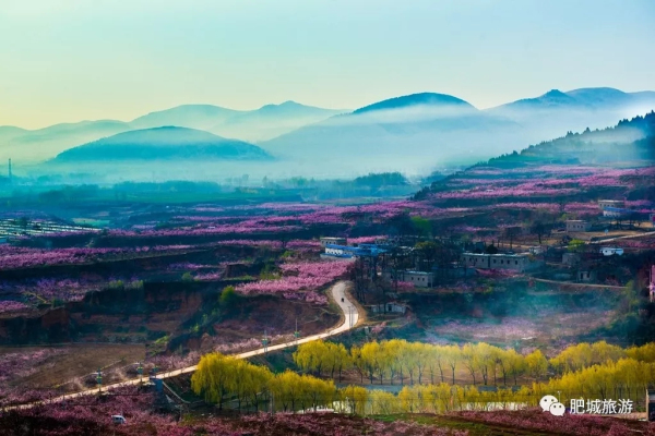
[[[535,407],[544,395],[557,395],[564,403],[573,398],[636,401],[655,380],[655,343],[629,349],[604,341],[581,343],[549,362],[538,350],[524,356],[486,343],[432,346],[394,339],[354,346],[348,353],[343,344],[315,341],[300,346],[294,360],[303,371],[334,375],[354,368],[362,379],[392,377],[417,384],[404,386],[397,396],[353,385],[337,389],[332,380],[288,370],[274,375],[266,367],[211,353],[201,359],[191,386],[196,395],[219,408],[229,398],[239,409],[246,405],[259,410],[272,402],[277,411],[330,408],[356,414],[390,414]],[[483,380],[513,379],[516,384],[516,377],[524,375],[534,382],[517,390],[480,391],[475,386],[446,383],[453,382],[451,377],[458,367]],[[556,376],[543,382],[548,372]],[[436,378],[441,383],[434,383]]]

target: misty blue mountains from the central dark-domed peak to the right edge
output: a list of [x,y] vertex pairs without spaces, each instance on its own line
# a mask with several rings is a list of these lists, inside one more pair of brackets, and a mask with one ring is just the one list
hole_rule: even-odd
[[421,93],[374,102],[260,145],[302,165],[357,161],[354,169],[366,171],[426,171],[428,162],[473,164],[561,132],[603,129],[653,108],[653,92],[612,88],[553,89],[488,110],[450,95]]

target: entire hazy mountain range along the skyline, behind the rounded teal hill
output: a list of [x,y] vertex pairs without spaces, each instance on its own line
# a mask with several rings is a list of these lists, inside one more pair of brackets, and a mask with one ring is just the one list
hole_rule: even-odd
[[[118,133],[178,126],[206,131],[219,135],[222,141],[230,137],[245,144],[255,143],[265,150],[262,153],[293,160],[296,168],[416,172],[427,166],[477,161],[522,149],[567,131],[605,128],[654,108],[655,92],[624,93],[614,88],[552,89],[485,110],[437,93],[390,98],[354,111],[294,101],[252,111],[184,105],[130,122],[83,121],[34,131],[0,126],[0,158],[44,161]],[[157,136],[159,140],[162,135]],[[114,143],[105,144],[106,153],[111,153],[110,144]]]

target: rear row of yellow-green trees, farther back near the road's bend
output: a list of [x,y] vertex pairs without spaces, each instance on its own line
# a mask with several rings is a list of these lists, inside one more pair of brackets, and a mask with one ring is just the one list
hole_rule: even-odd
[[543,379],[548,373],[568,374],[606,362],[630,358],[639,362],[655,362],[655,343],[622,349],[605,341],[571,346],[548,360],[539,350],[523,355],[513,349],[504,350],[488,343],[434,346],[392,339],[353,346],[348,351],[341,343],[313,341],[298,347],[294,353],[296,365],[319,377],[330,375],[342,380],[347,371],[358,373],[361,383],[388,380],[404,385],[408,382],[424,384],[438,382],[455,384],[455,374],[464,371],[473,385],[507,386],[508,380],[519,384],[519,378]]

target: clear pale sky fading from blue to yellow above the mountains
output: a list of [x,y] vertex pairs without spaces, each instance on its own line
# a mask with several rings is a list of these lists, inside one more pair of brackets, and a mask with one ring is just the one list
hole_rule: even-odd
[[0,0],[0,125],[655,89],[653,0]]

